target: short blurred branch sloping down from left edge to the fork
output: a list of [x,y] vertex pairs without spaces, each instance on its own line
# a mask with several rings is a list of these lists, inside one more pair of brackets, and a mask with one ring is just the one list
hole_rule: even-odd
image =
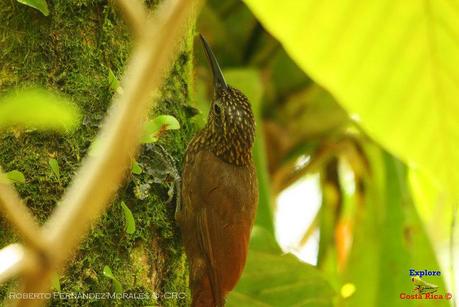
[[46,250],[38,224],[9,183],[0,182],[0,211],[3,211],[7,220],[28,246],[40,252]]

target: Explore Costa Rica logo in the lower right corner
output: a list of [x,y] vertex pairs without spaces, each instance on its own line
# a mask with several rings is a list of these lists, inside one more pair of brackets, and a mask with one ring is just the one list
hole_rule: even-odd
[[[452,293],[446,292],[441,293],[438,285],[433,282],[428,282],[422,279],[423,276],[440,277],[440,271],[422,270],[417,271],[415,269],[409,270],[409,276],[413,284],[413,290],[411,293],[400,293],[400,299],[403,300],[451,300],[453,298]],[[441,277],[440,277],[441,278]]]

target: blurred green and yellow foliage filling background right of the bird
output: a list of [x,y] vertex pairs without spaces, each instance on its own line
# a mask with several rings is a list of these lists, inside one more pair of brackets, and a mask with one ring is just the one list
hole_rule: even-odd
[[[248,7],[209,1],[198,29],[228,83],[253,104],[262,144],[254,150],[258,227],[272,225],[267,220],[279,193],[319,173],[322,206],[298,243],[300,250],[319,230],[316,272],[298,267],[310,280],[324,281],[315,298],[331,286],[340,294],[332,302],[338,306],[419,305],[400,299],[402,292],[413,293],[410,268],[442,268],[442,278],[427,281],[444,294],[444,278],[452,272],[437,258],[439,245],[453,239],[450,192],[459,186],[459,156],[451,145],[459,141],[457,3],[245,2]],[[200,47],[195,49],[194,100],[202,111],[195,122],[203,125],[211,75]],[[252,244],[276,245],[268,241]],[[276,275],[282,265],[268,261],[251,245],[229,305],[318,305],[308,303],[314,294],[306,290],[282,292],[295,274],[292,280]],[[294,262],[292,267],[301,265]],[[272,275],[262,278],[265,273]],[[276,282],[279,292],[270,296]]]

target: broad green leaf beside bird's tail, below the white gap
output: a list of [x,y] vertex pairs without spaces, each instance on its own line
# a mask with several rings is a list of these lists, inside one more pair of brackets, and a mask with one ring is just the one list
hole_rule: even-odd
[[332,306],[334,298],[320,271],[283,254],[266,230],[255,227],[244,273],[227,306]]

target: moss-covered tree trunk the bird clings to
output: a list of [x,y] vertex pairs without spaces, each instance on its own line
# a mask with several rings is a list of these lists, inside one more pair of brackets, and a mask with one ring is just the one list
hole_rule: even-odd
[[[0,3],[0,92],[39,85],[66,94],[83,113],[81,126],[71,135],[18,129],[0,134],[0,165],[6,171],[24,173],[26,183],[16,188],[40,223],[49,217],[87,154],[114,94],[108,71],[121,77],[131,48],[131,37],[113,3],[48,0],[48,4],[50,15],[45,17],[14,0]],[[148,1],[148,5],[154,9],[155,3]],[[193,133],[186,112],[191,48],[190,32],[162,88],[158,107],[150,114],[171,114],[181,129],[162,135],[159,144],[142,148],[137,161],[143,172],[128,176],[113,205],[69,261],[66,272],[60,275],[63,293],[112,292],[112,281],[102,274],[107,265],[121,282],[123,292],[150,297],[141,302],[120,301],[123,306],[187,305],[187,269],[173,218],[171,174],[174,166],[180,169]],[[60,180],[52,175],[50,158],[59,162]],[[136,221],[132,235],[125,231],[121,200]],[[0,217],[0,247],[17,240]],[[0,287],[0,298],[13,286]],[[111,306],[113,302],[54,299],[52,305]]]

